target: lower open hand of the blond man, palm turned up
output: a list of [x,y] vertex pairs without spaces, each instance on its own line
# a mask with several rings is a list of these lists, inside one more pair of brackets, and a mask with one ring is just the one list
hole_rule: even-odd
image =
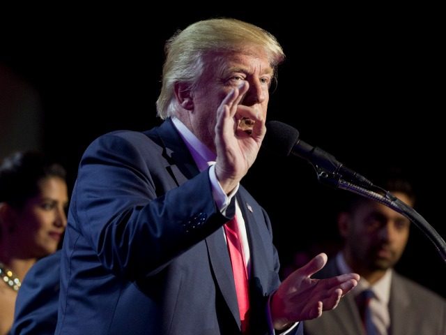
[[310,320],[339,304],[341,297],[357,285],[360,276],[342,274],[326,279],[310,278],[322,269],[327,255],[320,253],[295,270],[279,286],[270,301],[275,329],[284,329],[293,322]]

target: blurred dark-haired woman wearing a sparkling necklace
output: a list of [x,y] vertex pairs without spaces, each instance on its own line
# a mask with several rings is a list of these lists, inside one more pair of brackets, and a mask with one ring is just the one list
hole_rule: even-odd
[[0,335],[12,323],[17,291],[39,258],[54,253],[66,228],[66,171],[33,151],[0,165]]

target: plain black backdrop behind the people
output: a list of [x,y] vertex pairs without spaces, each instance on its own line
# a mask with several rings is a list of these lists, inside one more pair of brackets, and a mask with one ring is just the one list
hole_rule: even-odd
[[[164,41],[197,20],[229,16],[263,27],[284,47],[287,59],[268,118],[298,128],[306,142],[370,179],[401,166],[413,177],[415,209],[446,236],[438,8],[52,10],[14,13],[2,29],[0,62],[38,91],[41,147],[68,168],[70,188],[95,137],[160,124],[155,101]],[[298,158],[264,152],[243,184],[269,212],[284,266],[296,251],[316,253],[322,245],[332,253],[339,242],[334,210],[345,191],[318,184],[312,167]],[[446,297],[445,262],[415,227],[398,269]]]

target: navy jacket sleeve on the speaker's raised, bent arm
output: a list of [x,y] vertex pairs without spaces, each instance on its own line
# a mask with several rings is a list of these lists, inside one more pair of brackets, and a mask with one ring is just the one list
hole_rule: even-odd
[[157,272],[228,220],[215,207],[208,171],[171,186],[160,148],[139,142],[119,133],[95,140],[70,207],[102,265],[130,279]]

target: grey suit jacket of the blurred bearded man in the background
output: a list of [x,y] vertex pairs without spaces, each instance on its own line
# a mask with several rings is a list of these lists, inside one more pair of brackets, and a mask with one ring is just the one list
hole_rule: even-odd
[[[316,274],[318,278],[337,276],[335,258]],[[353,289],[355,290],[355,289]],[[361,335],[364,330],[355,303],[355,292],[342,298],[337,308],[321,318],[305,321],[305,335]],[[390,335],[445,335],[446,301],[404,278],[395,271],[390,289]]]

